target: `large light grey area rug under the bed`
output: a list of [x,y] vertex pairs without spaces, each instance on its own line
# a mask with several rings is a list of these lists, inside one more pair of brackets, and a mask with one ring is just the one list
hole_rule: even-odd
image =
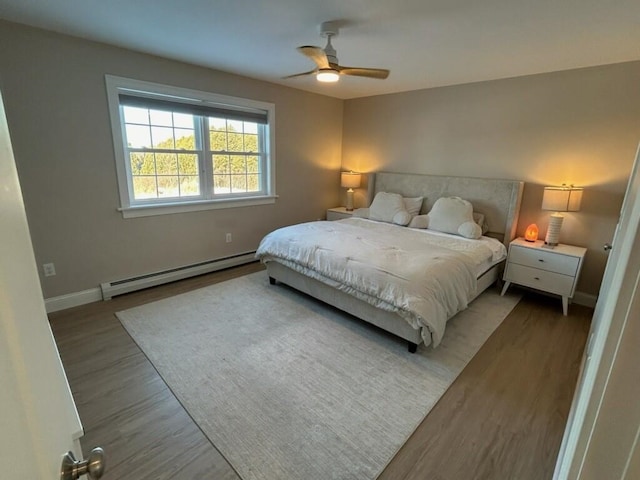
[[489,289],[438,348],[266,272],[117,314],[243,480],[375,479],[517,304]]

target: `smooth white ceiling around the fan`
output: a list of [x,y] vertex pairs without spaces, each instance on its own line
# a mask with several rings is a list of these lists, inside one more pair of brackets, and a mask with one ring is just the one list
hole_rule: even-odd
[[[640,59],[639,0],[0,0],[0,18],[343,99]],[[342,65],[389,78],[283,80],[329,20]]]

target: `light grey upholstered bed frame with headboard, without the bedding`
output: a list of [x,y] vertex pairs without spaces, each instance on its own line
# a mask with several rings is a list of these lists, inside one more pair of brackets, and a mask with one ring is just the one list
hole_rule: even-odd
[[[524,182],[514,180],[379,172],[369,174],[367,196],[368,204],[378,192],[399,193],[405,197],[423,196],[425,200],[421,213],[428,213],[440,197],[462,197],[471,202],[474,211],[485,215],[489,225],[489,232],[485,235],[498,238],[508,246],[516,235],[523,189]],[[276,281],[284,283],[391,332],[408,342],[411,353],[423,342],[420,330],[414,329],[397,313],[376,308],[275,260],[268,262],[266,266],[272,285]],[[504,262],[501,262],[484,272],[478,278],[478,289],[473,298],[495,283],[503,268]]]

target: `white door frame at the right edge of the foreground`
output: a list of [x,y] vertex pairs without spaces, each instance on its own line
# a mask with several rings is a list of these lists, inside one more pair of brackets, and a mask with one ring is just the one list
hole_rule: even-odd
[[640,434],[640,146],[554,479],[631,479]]

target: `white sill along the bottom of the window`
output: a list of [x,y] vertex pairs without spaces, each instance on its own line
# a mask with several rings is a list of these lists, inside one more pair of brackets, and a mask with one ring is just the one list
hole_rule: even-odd
[[233,200],[204,200],[195,202],[136,205],[118,208],[118,211],[122,212],[123,218],[152,217],[155,215],[171,215],[174,213],[198,212],[202,210],[269,205],[275,203],[277,198],[277,196],[264,196],[236,198]]

